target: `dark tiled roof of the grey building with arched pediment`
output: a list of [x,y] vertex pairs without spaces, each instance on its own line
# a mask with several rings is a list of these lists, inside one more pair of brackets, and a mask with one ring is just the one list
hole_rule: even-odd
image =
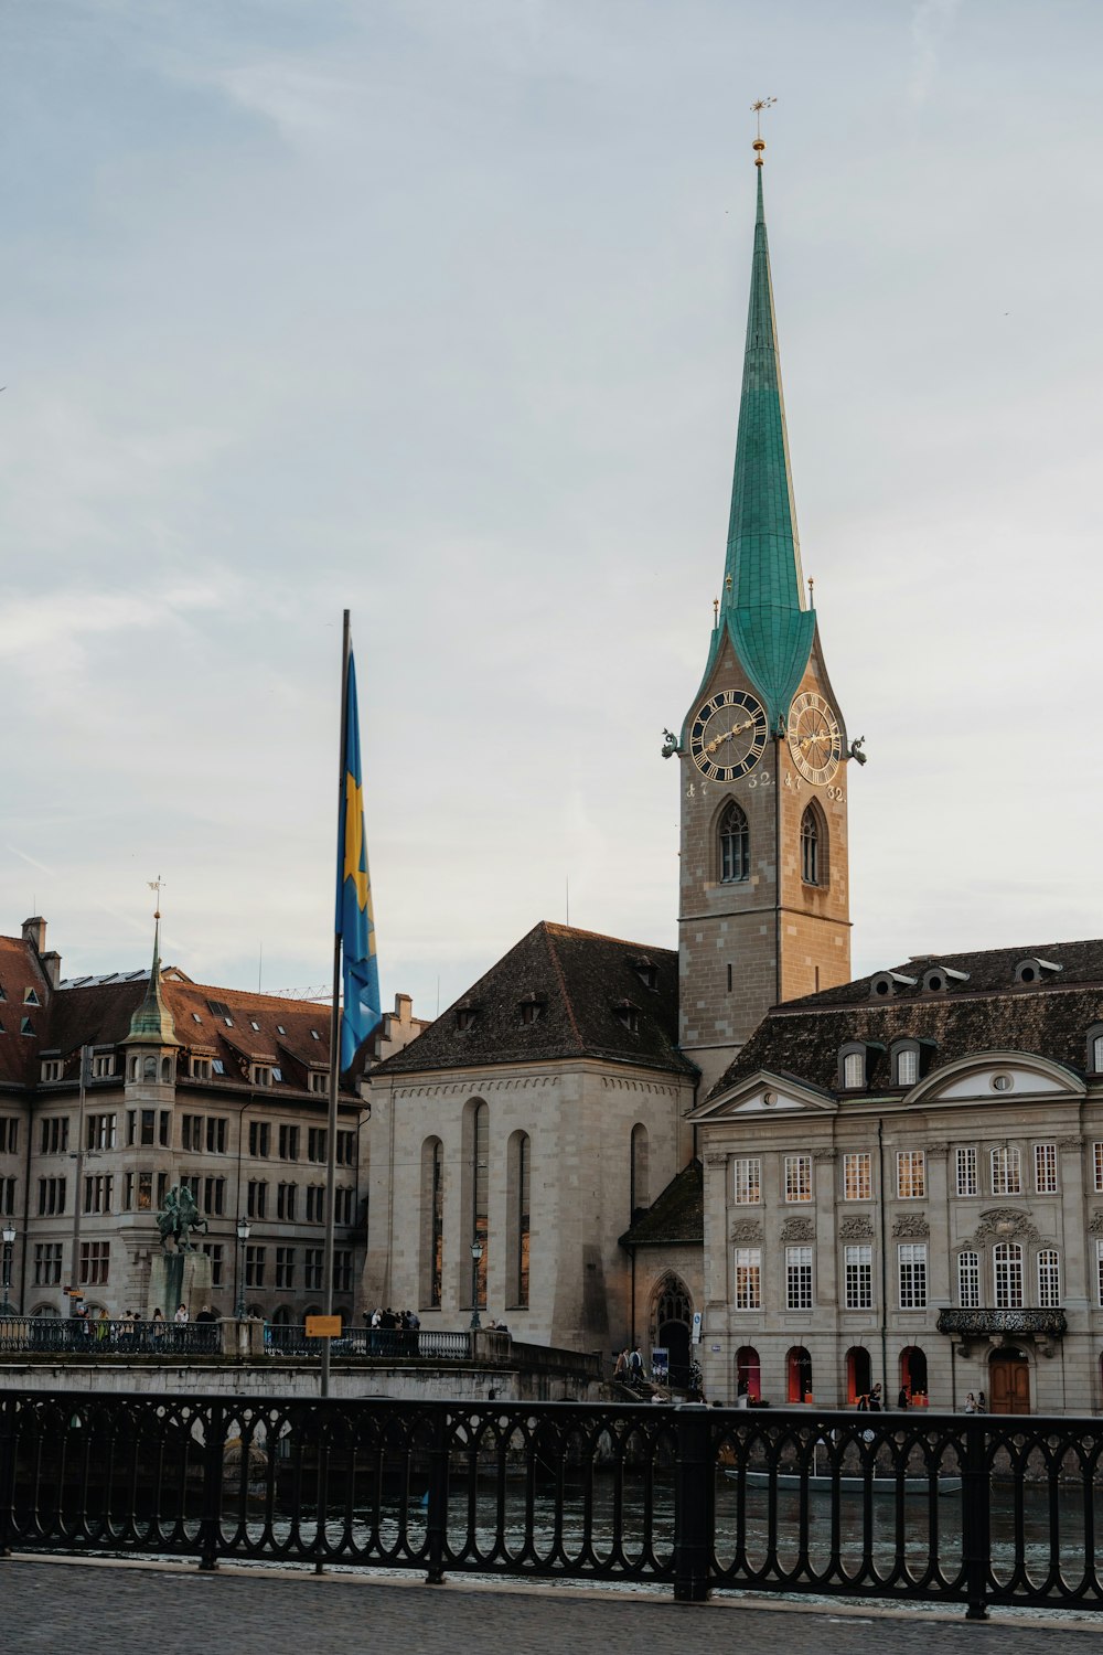
[[[1027,958],[1050,960],[1063,970],[1042,983],[1017,985],[1015,965]],[[924,955],[893,970],[921,980],[933,965],[967,971],[969,978],[944,993],[905,986],[888,1000],[873,1000],[873,973],[774,1006],[709,1097],[759,1069],[837,1092],[838,1051],[847,1041],[871,1048],[867,1072],[875,1092],[893,1086],[890,1048],[898,1039],[928,1043],[924,1074],[981,1051],[1035,1053],[1085,1072],[1088,1029],[1103,1023],[1103,942]]]

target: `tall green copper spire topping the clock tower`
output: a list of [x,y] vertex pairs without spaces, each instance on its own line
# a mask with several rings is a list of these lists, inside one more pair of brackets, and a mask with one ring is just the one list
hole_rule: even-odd
[[728,634],[739,662],[766,702],[771,728],[777,728],[809,664],[815,616],[804,604],[762,209],[761,147],[756,144],[757,213],[724,591],[706,677]]

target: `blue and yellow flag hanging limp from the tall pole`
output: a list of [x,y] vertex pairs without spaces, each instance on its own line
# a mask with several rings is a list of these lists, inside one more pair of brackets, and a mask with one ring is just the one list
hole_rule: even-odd
[[341,1072],[380,1021],[379,965],[372,882],[367,877],[364,839],[364,780],[361,773],[361,720],[356,708],[356,664],[349,650],[344,728],[344,808],[337,826],[337,935],[344,1010],[341,1013]]

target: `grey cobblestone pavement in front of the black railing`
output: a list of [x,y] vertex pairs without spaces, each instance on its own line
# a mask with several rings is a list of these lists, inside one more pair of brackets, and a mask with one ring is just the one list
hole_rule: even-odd
[[[685,1655],[754,1648],[800,1655],[1088,1655],[1103,1617],[1080,1627],[908,1610],[683,1605],[599,1589],[491,1587],[420,1579],[0,1559],[0,1647],[13,1655]],[[721,1642],[723,1640],[723,1642]]]

